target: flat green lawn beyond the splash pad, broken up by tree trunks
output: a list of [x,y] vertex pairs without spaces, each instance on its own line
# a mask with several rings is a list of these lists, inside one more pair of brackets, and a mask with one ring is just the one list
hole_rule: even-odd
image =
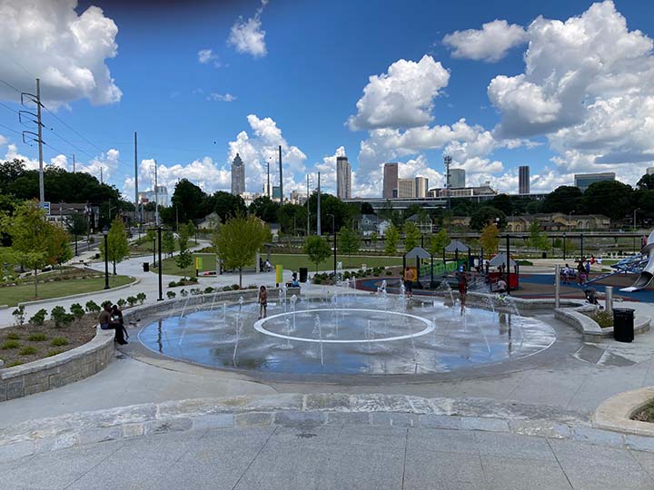
[[[170,274],[172,276],[189,276],[195,275],[195,263],[193,255],[193,264],[187,270],[181,270],[174,263],[174,258],[164,259],[163,260],[163,274]],[[262,256],[265,259],[265,255]],[[203,259],[203,270],[215,270],[215,256],[205,255]],[[401,257],[366,257],[362,255],[352,255],[351,258],[347,256],[337,256],[336,260],[342,261],[343,269],[361,269],[362,264],[365,264],[366,267],[379,267],[379,266],[397,266],[401,265]],[[306,267],[310,272],[315,271],[315,264],[309,260],[309,257],[303,254],[282,254],[282,253],[273,253],[271,255],[272,267],[277,264],[281,264],[284,270],[298,270],[301,267]],[[251,269],[254,268],[254,264],[250,266]],[[318,270],[332,270],[333,269],[333,257],[330,257],[327,260],[322,261],[318,266]],[[152,272],[156,273],[156,269],[151,269]]]

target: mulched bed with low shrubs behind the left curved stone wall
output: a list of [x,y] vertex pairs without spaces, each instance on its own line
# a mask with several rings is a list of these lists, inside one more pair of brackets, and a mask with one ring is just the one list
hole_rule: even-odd
[[49,358],[66,350],[77,348],[95,336],[97,315],[84,315],[79,321],[55,327],[46,320],[41,326],[25,324],[23,327],[0,329],[0,359],[3,368],[11,368],[42,358]]

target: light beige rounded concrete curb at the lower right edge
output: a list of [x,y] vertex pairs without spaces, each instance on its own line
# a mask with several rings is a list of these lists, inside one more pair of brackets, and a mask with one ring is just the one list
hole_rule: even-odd
[[[642,408],[654,401],[654,387],[620,393],[603,402],[593,415],[593,424],[611,431],[654,437],[654,424],[631,420]],[[632,438],[632,436],[627,436]],[[654,439],[652,440],[654,446]]]

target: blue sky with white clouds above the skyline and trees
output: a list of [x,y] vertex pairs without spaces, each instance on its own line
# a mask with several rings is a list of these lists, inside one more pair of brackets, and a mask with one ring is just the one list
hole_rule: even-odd
[[440,185],[444,152],[510,192],[521,164],[532,191],[654,165],[649,3],[130,4],[0,0],[0,154],[34,165],[12,87],[40,76],[45,161],[70,170],[75,153],[129,198],[134,131],[141,189],[156,159],[170,187],[228,190],[240,152],[261,191],[277,144],[286,191],[316,171],[331,190],[344,152],[360,196],[381,194],[388,161]]

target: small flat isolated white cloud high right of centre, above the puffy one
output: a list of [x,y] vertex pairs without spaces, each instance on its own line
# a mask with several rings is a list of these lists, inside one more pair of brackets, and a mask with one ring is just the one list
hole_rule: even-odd
[[521,25],[497,19],[481,25],[479,30],[455,31],[443,38],[453,57],[487,62],[499,61],[510,48],[526,42],[527,33]]

